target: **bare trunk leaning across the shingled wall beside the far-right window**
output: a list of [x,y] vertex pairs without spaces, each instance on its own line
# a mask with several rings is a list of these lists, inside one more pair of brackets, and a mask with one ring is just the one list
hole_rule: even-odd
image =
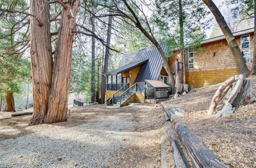
[[242,52],[238,46],[236,38],[234,38],[232,32],[230,31],[224,17],[222,16],[220,10],[218,7],[212,2],[212,0],[202,0],[205,5],[210,9],[212,14],[214,14],[216,21],[218,22],[226,40],[229,45],[229,48],[232,52],[234,62],[236,63],[238,74],[245,74],[249,75],[250,71],[248,70],[248,67],[246,66]]

